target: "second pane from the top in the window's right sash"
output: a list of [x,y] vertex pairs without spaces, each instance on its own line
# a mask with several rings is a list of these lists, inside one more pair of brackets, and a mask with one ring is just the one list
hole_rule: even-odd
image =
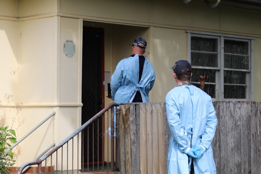
[[224,54],[224,67],[248,70],[248,56]]

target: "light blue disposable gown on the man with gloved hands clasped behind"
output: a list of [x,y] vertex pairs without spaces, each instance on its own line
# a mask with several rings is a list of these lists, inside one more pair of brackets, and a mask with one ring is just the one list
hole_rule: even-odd
[[195,174],[216,174],[211,141],[217,118],[211,97],[193,85],[177,86],[166,96],[166,111],[171,132],[168,173],[189,173],[188,156],[184,151],[190,147],[193,128],[192,148],[198,145],[206,148],[199,159],[193,158]]

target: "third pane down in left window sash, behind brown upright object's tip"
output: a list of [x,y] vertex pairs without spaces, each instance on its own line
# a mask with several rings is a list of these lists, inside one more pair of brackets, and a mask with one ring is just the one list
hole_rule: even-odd
[[216,83],[216,70],[193,68],[192,73],[191,82],[200,82],[199,76],[204,76],[205,82]]

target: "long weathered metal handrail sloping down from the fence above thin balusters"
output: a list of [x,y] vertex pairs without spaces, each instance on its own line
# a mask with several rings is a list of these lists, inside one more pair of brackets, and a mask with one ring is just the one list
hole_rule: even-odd
[[65,138],[61,143],[57,144],[53,149],[51,149],[49,152],[47,152],[44,156],[39,158],[38,160],[29,161],[24,164],[18,169],[17,174],[21,174],[22,171],[26,166],[29,165],[38,165],[38,170],[41,171],[41,163],[47,159],[49,156],[51,156],[54,152],[56,152],[61,146],[63,146],[65,143],[67,143],[69,140],[71,140],[74,136],[76,136],[78,133],[80,133],[82,130],[84,130],[85,127],[87,127],[90,123],[101,117],[102,114],[104,114],[106,111],[111,109],[112,107],[119,106],[121,104],[127,104],[127,103],[110,103],[107,107],[102,109],[100,112],[98,112],[96,115],[94,115],[90,120],[88,120],[86,123],[84,123],[81,127],[79,127],[77,130],[75,130],[71,135],[69,135],[67,138]]

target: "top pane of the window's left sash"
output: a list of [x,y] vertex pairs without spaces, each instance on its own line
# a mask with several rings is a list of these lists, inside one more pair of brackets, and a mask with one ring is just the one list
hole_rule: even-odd
[[217,52],[217,39],[191,37],[191,51]]

